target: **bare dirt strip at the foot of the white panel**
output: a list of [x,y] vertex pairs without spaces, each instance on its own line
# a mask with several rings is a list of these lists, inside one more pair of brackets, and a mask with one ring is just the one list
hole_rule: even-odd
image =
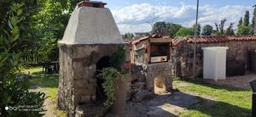
[[206,83],[216,84],[220,86],[232,86],[237,88],[250,89],[251,86],[249,84],[249,81],[253,80],[254,78],[256,78],[255,74],[247,73],[247,75],[226,77],[226,80],[218,80],[218,81],[204,80],[204,81]]

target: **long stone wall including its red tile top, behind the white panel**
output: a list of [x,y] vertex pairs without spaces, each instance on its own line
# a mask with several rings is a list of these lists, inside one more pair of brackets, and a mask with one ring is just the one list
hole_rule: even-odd
[[[173,75],[187,78],[193,76],[193,42],[193,36],[173,39]],[[203,75],[202,47],[229,47],[226,58],[227,75],[243,72],[242,70],[251,70],[252,68],[251,52],[256,49],[256,36],[200,36],[196,39],[196,43],[195,75],[197,77]]]

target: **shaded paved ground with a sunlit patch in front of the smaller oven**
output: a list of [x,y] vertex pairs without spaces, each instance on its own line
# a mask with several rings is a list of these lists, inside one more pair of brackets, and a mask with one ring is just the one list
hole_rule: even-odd
[[[145,100],[142,103],[127,102],[125,107],[125,117],[177,117],[188,112],[191,104],[199,103],[198,98],[214,100],[209,96],[199,96],[192,92],[173,92],[156,95],[154,98]],[[113,116],[113,114],[107,114]]]

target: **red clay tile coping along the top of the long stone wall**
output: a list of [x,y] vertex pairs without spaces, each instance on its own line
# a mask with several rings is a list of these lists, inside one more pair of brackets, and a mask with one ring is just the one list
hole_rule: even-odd
[[178,46],[182,42],[192,43],[194,41],[196,41],[196,43],[256,41],[256,36],[199,36],[196,39],[195,39],[195,36],[188,36],[188,37],[173,39],[172,46]]

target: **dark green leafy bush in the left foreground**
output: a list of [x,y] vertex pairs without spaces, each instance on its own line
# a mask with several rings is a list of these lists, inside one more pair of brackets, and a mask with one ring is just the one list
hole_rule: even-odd
[[[26,5],[25,5],[26,3]],[[32,1],[1,1],[0,15],[0,107],[4,116],[42,116],[40,111],[20,112],[6,111],[4,107],[21,105],[36,105],[43,107],[45,94],[43,92],[28,92],[26,76],[18,75],[22,56],[30,47],[30,23],[32,16]],[[31,9],[32,8],[32,9]],[[31,10],[31,11],[29,11]],[[28,42],[28,43],[26,43]]]

